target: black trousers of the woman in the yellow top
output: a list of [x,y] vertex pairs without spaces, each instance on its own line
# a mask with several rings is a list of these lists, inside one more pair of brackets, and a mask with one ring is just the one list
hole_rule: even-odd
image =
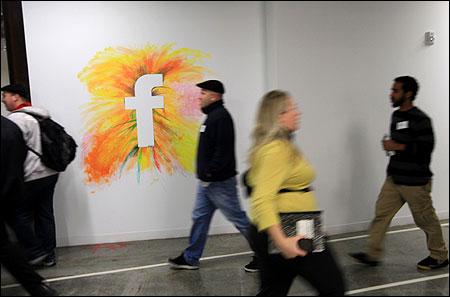
[[286,296],[296,276],[307,280],[320,296],[344,295],[342,273],[328,246],[323,252],[288,260],[281,254],[268,253],[266,232],[258,232],[252,226],[250,234],[261,263],[258,296]]

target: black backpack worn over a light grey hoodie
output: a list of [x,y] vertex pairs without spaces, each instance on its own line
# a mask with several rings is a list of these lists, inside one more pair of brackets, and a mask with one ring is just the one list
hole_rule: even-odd
[[34,117],[41,130],[42,154],[39,154],[32,148],[30,151],[41,158],[42,163],[48,168],[62,172],[66,170],[67,165],[75,159],[77,144],[75,140],[67,134],[64,127],[53,121],[51,118],[40,117],[26,111],[20,111]]

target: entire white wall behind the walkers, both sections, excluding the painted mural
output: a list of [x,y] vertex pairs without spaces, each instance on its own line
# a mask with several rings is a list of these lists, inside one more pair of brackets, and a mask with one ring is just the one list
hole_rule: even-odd
[[[301,148],[330,233],[363,230],[373,216],[387,159],[389,89],[415,76],[417,105],[434,120],[432,169],[438,214],[448,218],[448,3],[440,2],[23,2],[33,102],[80,141],[89,94],[77,74],[109,46],[176,42],[209,52],[207,67],[226,83],[237,127],[239,170],[257,101],[290,91],[302,109]],[[423,45],[434,30],[436,44]],[[134,173],[86,186],[82,160],[57,184],[59,245],[187,236],[194,176]],[[247,208],[247,201],[243,201]],[[412,222],[403,209],[395,224]],[[212,233],[235,232],[216,215]]]

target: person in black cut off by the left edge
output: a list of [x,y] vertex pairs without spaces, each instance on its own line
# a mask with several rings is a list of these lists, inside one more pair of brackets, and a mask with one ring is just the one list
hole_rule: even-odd
[[[23,163],[27,155],[27,147],[22,131],[11,120],[1,116],[1,264],[22,284],[32,296],[57,296],[28,264],[22,247],[12,243],[6,225],[14,220],[17,205],[23,203],[24,177]],[[2,292],[2,295],[3,292]]]

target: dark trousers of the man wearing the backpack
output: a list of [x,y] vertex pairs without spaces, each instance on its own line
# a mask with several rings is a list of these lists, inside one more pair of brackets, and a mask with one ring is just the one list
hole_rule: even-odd
[[28,259],[56,248],[53,193],[58,174],[25,183],[25,198],[16,210],[14,231],[25,248]]

